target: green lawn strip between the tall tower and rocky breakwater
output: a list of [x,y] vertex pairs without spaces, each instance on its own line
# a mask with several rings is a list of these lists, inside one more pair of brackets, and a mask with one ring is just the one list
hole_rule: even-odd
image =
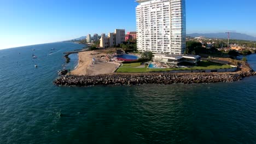
[[170,69],[147,69],[145,68],[135,68],[141,65],[141,63],[131,63],[131,64],[124,64],[120,68],[117,69],[116,72],[118,73],[145,73],[150,71],[171,71],[171,70],[206,70],[206,69],[225,69],[225,68],[232,68],[229,65],[222,65],[213,62],[202,61],[196,67],[191,68],[170,68]]

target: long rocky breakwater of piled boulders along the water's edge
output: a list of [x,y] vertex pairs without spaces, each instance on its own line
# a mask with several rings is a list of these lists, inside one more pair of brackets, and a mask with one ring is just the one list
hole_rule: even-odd
[[95,76],[65,75],[54,81],[59,86],[96,86],[96,85],[141,85],[156,83],[168,85],[171,83],[214,83],[234,82],[243,77],[252,76],[253,71],[238,71],[236,73],[197,73],[197,74],[108,74]]

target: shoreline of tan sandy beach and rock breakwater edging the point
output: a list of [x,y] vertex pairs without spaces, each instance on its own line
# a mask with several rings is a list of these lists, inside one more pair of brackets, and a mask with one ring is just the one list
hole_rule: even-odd
[[[58,86],[96,86],[96,85],[141,85],[155,83],[215,83],[234,82],[256,73],[248,63],[241,63],[234,72],[201,73],[116,73],[118,62],[109,62],[106,50],[78,51],[78,63],[68,75],[54,81]],[[185,71],[184,71],[185,72]]]

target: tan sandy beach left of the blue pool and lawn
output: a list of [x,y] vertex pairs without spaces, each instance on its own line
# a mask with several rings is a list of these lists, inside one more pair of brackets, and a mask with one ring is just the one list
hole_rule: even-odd
[[[118,62],[106,62],[106,53],[98,51],[84,51],[78,53],[78,66],[71,71],[72,75],[99,75],[111,74],[119,67]],[[95,58],[95,63],[92,63]]]

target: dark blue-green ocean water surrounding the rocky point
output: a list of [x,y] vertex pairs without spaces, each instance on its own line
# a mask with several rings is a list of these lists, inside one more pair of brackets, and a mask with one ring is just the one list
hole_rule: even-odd
[[[0,143],[256,143],[255,76],[233,83],[54,86],[57,70],[77,65],[77,55],[65,64],[63,52],[82,47],[0,50]],[[256,55],[248,60],[254,68]]]

